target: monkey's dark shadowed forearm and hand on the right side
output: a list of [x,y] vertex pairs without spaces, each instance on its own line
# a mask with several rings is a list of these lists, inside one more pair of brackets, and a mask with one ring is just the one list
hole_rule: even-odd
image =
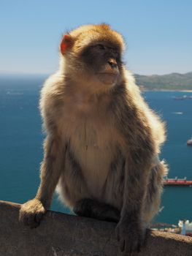
[[[147,187],[147,172],[150,162],[144,151],[145,157],[137,161],[137,153],[132,150],[126,159],[125,183],[123,191],[123,207],[120,212],[120,221],[116,227],[116,236],[120,241],[120,251],[123,255],[139,252],[145,242],[146,228],[142,221],[142,203]],[[148,162],[146,162],[148,161]],[[146,162],[146,163],[145,163]]]

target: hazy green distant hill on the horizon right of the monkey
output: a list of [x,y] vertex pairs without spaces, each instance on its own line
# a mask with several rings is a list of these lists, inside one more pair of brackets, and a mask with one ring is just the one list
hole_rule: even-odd
[[169,75],[137,75],[137,85],[145,90],[192,90],[192,72]]

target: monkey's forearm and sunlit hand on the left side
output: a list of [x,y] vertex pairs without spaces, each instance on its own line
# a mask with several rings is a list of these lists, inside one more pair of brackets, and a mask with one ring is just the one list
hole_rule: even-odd
[[45,211],[50,208],[53,192],[61,175],[64,150],[60,140],[48,136],[45,140],[45,154],[41,165],[41,183],[34,199],[20,208],[20,221],[25,225],[37,227]]

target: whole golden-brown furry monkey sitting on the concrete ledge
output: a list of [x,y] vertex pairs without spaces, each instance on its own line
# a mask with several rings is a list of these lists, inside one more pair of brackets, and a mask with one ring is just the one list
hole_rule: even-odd
[[61,62],[42,88],[47,138],[36,197],[20,221],[39,225],[53,192],[75,214],[118,222],[120,250],[139,251],[158,212],[166,165],[164,123],[122,62],[123,37],[107,24],[64,35]]

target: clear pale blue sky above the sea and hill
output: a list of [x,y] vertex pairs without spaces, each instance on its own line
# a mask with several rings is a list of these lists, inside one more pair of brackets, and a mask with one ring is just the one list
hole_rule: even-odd
[[53,73],[61,35],[101,22],[123,34],[131,71],[192,71],[191,0],[1,0],[0,72]]

